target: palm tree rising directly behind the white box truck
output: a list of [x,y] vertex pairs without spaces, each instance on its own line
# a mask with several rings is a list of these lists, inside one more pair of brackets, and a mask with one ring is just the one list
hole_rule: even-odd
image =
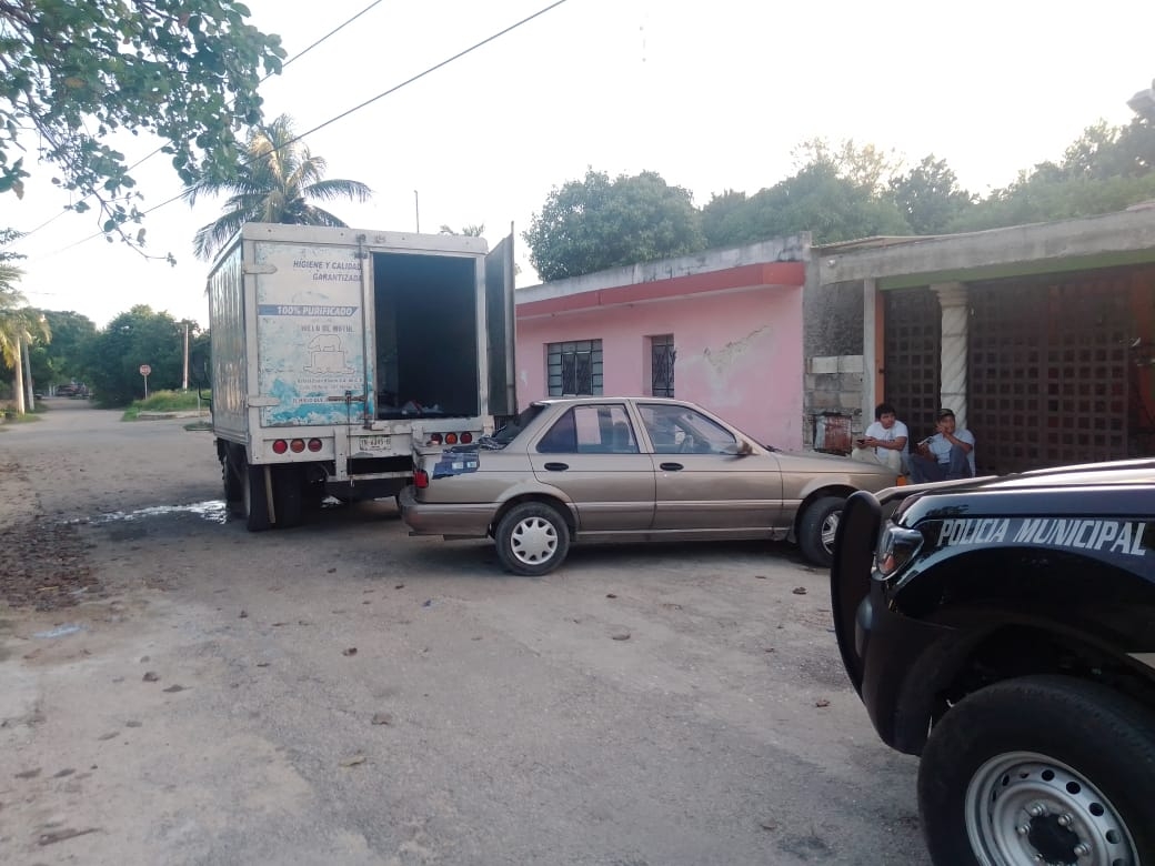
[[248,136],[247,157],[230,180],[204,181],[185,189],[195,204],[200,195],[230,193],[224,214],[202,226],[193,239],[198,259],[209,260],[245,223],[343,226],[338,217],[310,200],[367,201],[373,191],[357,180],[325,180],[327,163],[313,156],[292,130],[292,118],[282,114]]

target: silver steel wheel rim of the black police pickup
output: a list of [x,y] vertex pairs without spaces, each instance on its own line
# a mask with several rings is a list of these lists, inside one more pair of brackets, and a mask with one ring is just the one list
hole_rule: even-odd
[[997,755],[975,772],[964,801],[967,835],[986,866],[1138,866],[1118,812],[1090,782],[1034,752]]

